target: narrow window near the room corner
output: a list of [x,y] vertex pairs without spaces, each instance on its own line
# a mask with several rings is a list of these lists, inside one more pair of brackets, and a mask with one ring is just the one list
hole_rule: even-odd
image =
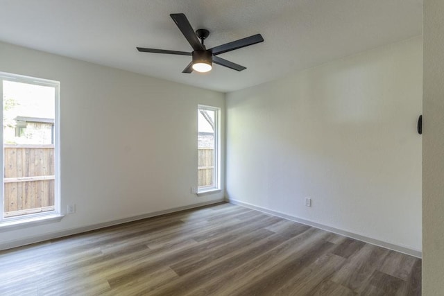
[[198,106],[198,193],[220,189],[219,113]]

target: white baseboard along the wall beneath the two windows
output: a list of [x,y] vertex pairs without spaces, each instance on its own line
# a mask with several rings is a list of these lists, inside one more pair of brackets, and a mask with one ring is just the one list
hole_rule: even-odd
[[101,228],[105,228],[105,227],[110,227],[110,226],[114,226],[114,225],[119,225],[119,224],[123,224],[123,223],[128,223],[128,222],[133,222],[136,220],[142,220],[142,219],[146,219],[146,218],[151,218],[151,217],[155,217],[155,216],[161,216],[161,215],[165,215],[165,214],[171,214],[171,213],[176,213],[178,211],[184,211],[187,209],[195,209],[198,207],[205,207],[207,205],[210,204],[216,204],[218,202],[225,202],[225,198],[220,198],[217,200],[211,200],[208,202],[199,202],[197,204],[189,204],[187,206],[184,207],[176,207],[173,209],[167,209],[167,210],[163,210],[163,211],[155,211],[152,213],[148,213],[148,214],[143,214],[143,215],[137,215],[137,216],[131,216],[128,218],[123,218],[123,219],[119,219],[119,220],[112,220],[112,221],[108,221],[105,223],[99,223],[99,224],[94,224],[94,225],[88,225],[85,227],[78,227],[78,228],[73,228],[73,229],[67,229],[64,230],[62,232],[51,232],[49,234],[42,234],[39,236],[32,236],[29,238],[22,238],[19,239],[17,241],[10,241],[8,243],[0,243],[0,251],[1,250],[8,250],[8,249],[12,249],[13,247],[22,247],[24,245],[31,245],[32,243],[42,243],[44,241],[49,241],[51,239],[54,238],[61,238],[63,236],[71,236],[74,234],[80,234],[83,232],[89,232],[92,230],[96,230],[96,229],[101,229]]

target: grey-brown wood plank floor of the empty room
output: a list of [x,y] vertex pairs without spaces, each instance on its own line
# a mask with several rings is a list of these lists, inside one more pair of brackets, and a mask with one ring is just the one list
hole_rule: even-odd
[[0,252],[0,295],[420,293],[420,259],[227,203]]

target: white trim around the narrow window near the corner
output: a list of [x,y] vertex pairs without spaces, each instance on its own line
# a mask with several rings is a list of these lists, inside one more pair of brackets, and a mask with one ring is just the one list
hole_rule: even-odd
[[[214,193],[221,191],[221,108],[198,105],[197,110],[214,111],[214,186],[200,188],[197,186],[197,194]],[[197,164],[196,164],[197,165]]]

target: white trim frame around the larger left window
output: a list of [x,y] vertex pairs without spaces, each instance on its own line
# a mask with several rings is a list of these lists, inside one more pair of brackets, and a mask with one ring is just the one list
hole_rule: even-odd
[[[3,173],[1,174],[1,193],[0,193],[0,231],[10,230],[15,228],[21,228],[26,226],[35,226],[40,225],[42,223],[49,223],[53,221],[60,221],[63,217],[60,211],[60,82],[56,80],[48,80],[42,78],[35,78],[30,76],[23,76],[18,74],[0,72],[0,94],[3,94],[3,80],[8,80],[12,82],[23,82],[33,85],[42,85],[49,86],[55,88],[55,96],[56,96],[56,116],[54,119],[54,210],[53,211],[45,211],[42,213],[35,214],[27,214],[23,216],[17,217],[8,217],[3,218],[3,194],[4,194],[4,183],[3,183]],[[3,106],[3,96],[0,98],[0,105]],[[3,108],[3,107],[2,107]],[[1,112],[1,118],[3,119],[3,109]],[[3,146],[3,129],[1,132],[1,145]],[[2,149],[3,150],[3,149]],[[0,161],[2,167],[4,169],[4,159],[3,152],[0,153]]]

